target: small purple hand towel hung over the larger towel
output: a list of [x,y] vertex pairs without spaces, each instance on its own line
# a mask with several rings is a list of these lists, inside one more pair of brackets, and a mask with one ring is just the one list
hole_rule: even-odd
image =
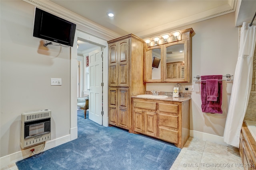
[[208,101],[217,101],[218,97],[218,79],[206,80],[206,94]]

